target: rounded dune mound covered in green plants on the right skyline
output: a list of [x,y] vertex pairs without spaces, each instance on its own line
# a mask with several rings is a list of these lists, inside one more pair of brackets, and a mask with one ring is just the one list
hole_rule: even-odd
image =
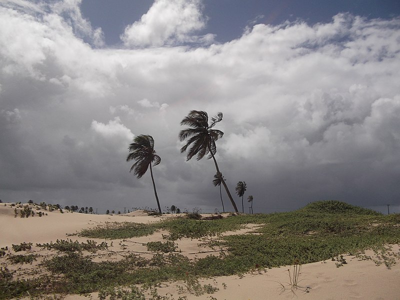
[[313,212],[313,213],[353,213],[353,214],[371,214],[379,215],[372,209],[354,206],[342,201],[328,200],[328,201],[315,201],[305,205],[299,209],[302,212]]

